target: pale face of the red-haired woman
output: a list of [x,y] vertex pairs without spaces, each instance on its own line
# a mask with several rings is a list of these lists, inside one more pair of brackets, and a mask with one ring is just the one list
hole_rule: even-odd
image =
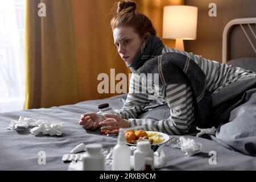
[[127,64],[131,64],[134,56],[142,46],[143,39],[138,33],[134,32],[133,27],[114,28],[113,37],[119,55]]

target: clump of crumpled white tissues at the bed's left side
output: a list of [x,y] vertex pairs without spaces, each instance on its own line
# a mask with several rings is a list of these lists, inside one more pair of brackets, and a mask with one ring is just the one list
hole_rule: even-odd
[[9,124],[9,130],[24,130],[33,127],[30,132],[34,135],[61,135],[60,129],[63,123],[49,123],[44,119],[32,119],[20,116],[18,121],[12,120]]

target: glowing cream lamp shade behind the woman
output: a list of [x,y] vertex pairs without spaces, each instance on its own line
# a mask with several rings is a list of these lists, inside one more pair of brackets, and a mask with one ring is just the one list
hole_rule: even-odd
[[195,6],[164,6],[163,38],[195,40],[197,11]]

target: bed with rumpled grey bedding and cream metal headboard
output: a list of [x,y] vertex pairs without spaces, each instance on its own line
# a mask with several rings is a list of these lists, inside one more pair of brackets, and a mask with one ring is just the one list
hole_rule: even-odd
[[[256,23],[256,18],[244,18],[239,21],[233,20],[228,24],[230,28],[234,24],[243,23]],[[229,32],[229,28],[225,28],[224,34]],[[254,35],[255,36],[255,35]],[[255,37],[254,37],[255,38]],[[224,38],[224,47],[226,48],[226,38]],[[226,50],[226,49],[225,49]],[[224,51],[226,53],[226,51]],[[256,53],[256,52],[255,52]],[[226,57],[226,55],[224,55]],[[245,60],[243,58],[243,60]],[[243,60],[231,60],[228,64],[240,65],[240,67],[248,66],[250,69],[256,71],[256,58],[246,58],[246,64],[243,65]],[[224,62],[226,59],[224,59]],[[251,81],[250,81],[251,83]],[[237,85],[241,87],[241,85]],[[231,88],[233,89],[233,88]],[[229,90],[226,90],[229,92]],[[255,92],[256,93],[256,92]],[[117,136],[107,137],[100,134],[100,130],[87,131],[78,125],[80,115],[89,111],[97,111],[97,105],[108,102],[113,109],[121,109],[126,99],[126,94],[105,98],[104,100],[90,100],[79,102],[74,105],[55,106],[50,108],[20,110],[10,113],[0,114],[0,169],[1,170],[68,170],[70,163],[64,163],[62,158],[64,154],[70,154],[72,148],[77,144],[84,143],[101,143],[105,151],[110,151],[117,142]],[[255,96],[255,97],[253,97]],[[222,98],[222,96],[219,96]],[[254,100],[246,102],[239,107],[240,110],[229,108],[239,121],[250,121],[251,127],[255,126],[251,131],[250,136],[241,135],[243,137],[250,138],[251,135],[256,133],[256,95],[251,96]],[[216,98],[218,101],[218,98]],[[217,104],[216,104],[217,105]],[[228,109],[222,108],[230,113]],[[241,110],[246,110],[250,114],[247,114],[247,118],[239,118]],[[220,111],[220,110],[218,110]],[[221,115],[220,114],[220,115]],[[29,130],[7,130],[11,120],[17,120],[20,115],[33,119],[46,119],[51,123],[63,122],[63,128],[61,129],[62,135],[49,136],[49,135],[32,135]],[[152,102],[151,105],[145,108],[145,110],[139,114],[138,118],[152,118],[161,119],[168,118],[170,110],[168,106],[160,101]],[[238,125],[241,123],[238,122]],[[253,122],[251,122],[253,121]],[[231,123],[231,122],[230,122]],[[187,156],[179,147],[174,147],[170,142],[160,145],[156,151],[163,151],[166,155],[166,165],[158,170],[256,170],[256,151],[255,137],[254,140],[240,141],[242,137],[233,138],[232,133],[228,135],[228,138],[223,139],[222,129],[224,133],[229,132],[230,128],[227,126],[230,123],[225,123],[218,127],[218,136],[205,135],[204,137],[196,137],[196,131],[192,131],[191,134],[184,135],[184,138],[190,138],[195,140],[196,143],[202,144],[202,151],[199,154],[193,156]],[[235,122],[234,122],[235,123]],[[236,124],[236,123],[235,123]],[[231,126],[234,127],[234,126]],[[233,128],[232,128],[233,129]],[[197,131],[199,132],[199,131]],[[171,139],[179,139],[180,136],[170,136]],[[230,137],[230,138],[229,138]],[[237,137],[237,136],[236,136]],[[224,136],[225,138],[225,136]],[[237,150],[236,147],[228,143],[232,142],[236,145],[242,145],[242,152]],[[249,148],[250,154],[246,154]],[[239,148],[238,148],[239,149]],[[42,163],[40,156],[42,154],[46,157]],[[213,157],[217,159],[213,162]],[[106,170],[110,170],[110,166],[106,167]]]

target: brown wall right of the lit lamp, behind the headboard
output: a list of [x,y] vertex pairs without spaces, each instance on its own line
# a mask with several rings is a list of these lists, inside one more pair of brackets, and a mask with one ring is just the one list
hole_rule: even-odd
[[[209,3],[216,3],[216,17],[208,15]],[[225,25],[234,18],[256,17],[255,0],[184,0],[184,5],[199,8],[197,39],[185,40],[185,51],[220,62],[222,59],[222,31]],[[233,34],[230,35],[230,39],[232,39],[230,54],[232,56],[229,59],[256,57],[241,28],[234,27],[233,29]]]

